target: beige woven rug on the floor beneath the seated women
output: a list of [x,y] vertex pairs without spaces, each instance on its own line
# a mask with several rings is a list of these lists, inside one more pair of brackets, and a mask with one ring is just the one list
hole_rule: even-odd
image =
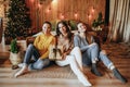
[[[13,70],[13,75],[20,71],[18,70]],[[27,72],[17,78],[77,78],[76,75],[73,73],[69,66],[57,66],[57,65],[52,65],[50,67],[46,67],[41,71],[32,71],[32,72]]]

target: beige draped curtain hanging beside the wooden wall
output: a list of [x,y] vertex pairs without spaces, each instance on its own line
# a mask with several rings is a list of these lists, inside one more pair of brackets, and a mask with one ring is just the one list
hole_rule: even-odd
[[108,38],[130,42],[130,0],[110,0]]

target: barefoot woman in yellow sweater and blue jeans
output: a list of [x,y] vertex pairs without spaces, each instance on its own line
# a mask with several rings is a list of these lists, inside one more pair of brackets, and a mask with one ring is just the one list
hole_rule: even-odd
[[[34,45],[30,44],[26,50],[24,62],[21,64],[22,70],[15,74],[15,77],[27,71],[42,70],[50,64],[49,47],[55,44],[55,37],[51,35],[51,23],[44,22],[42,34],[37,36]],[[32,59],[31,59],[32,58]],[[30,61],[34,60],[34,63]]]

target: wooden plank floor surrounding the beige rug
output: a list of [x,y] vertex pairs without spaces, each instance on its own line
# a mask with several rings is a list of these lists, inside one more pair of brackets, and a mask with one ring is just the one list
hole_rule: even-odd
[[[114,44],[114,46],[116,46]],[[123,45],[125,46],[125,45]],[[121,48],[120,45],[117,48]],[[105,71],[102,77],[88,76],[92,87],[130,87],[130,51],[128,47],[125,50],[117,49],[112,52],[110,59],[118,67],[120,73],[127,77],[128,83],[122,84],[116,79],[110,71]],[[122,48],[123,49],[123,48]],[[11,78],[11,64],[9,61],[9,46],[0,45],[0,87],[83,87],[78,79],[66,78]],[[107,50],[107,49],[106,49]],[[113,48],[112,48],[113,50]],[[120,51],[120,54],[116,54]],[[110,53],[110,51],[109,51]],[[123,58],[122,58],[123,57]],[[101,70],[102,72],[104,70]]]

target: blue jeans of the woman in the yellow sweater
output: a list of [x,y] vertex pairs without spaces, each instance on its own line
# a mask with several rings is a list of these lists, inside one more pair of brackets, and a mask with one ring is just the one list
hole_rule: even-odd
[[[32,44],[30,44],[26,50],[24,63],[28,65],[29,70],[42,70],[50,65],[50,60],[47,59],[39,59],[40,53],[35,48]],[[30,61],[34,60],[31,63]]]

